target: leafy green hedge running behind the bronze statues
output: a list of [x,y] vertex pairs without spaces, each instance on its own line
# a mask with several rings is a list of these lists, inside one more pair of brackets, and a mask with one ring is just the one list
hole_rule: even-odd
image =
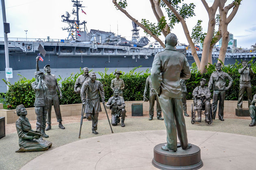
[[[256,63],[253,63],[253,60],[251,60],[250,64],[252,64],[252,70],[256,73]],[[224,72],[227,72],[233,79],[233,84],[231,88],[226,92],[225,100],[237,100],[238,98],[240,77],[240,74],[238,73],[239,68],[242,68],[242,65],[241,62],[238,61],[236,61],[234,65],[223,66],[222,68],[222,70]],[[125,83],[125,101],[143,100],[145,81],[150,73],[149,70],[146,70],[145,72],[135,72],[136,69],[137,68],[133,68],[128,73],[123,72],[123,75],[120,76],[120,78],[123,79]],[[113,96],[113,92],[110,88],[110,85],[111,80],[115,78],[113,72],[111,74],[107,74],[107,70],[108,69],[106,68],[105,72],[98,72],[98,74],[100,74],[98,80],[102,82],[104,87],[105,101],[107,101],[111,96]],[[191,78],[186,81],[188,91],[187,100],[192,99],[193,89],[200,84],[200,79],[204,78],[208,83],[210,75],[214,71],[215,66],[210,65],[207,68],[207,72],[205,74],[200,74],[200,72],[197,71],[195,63],[192,64]],[[75,104],[81,102],[80,95],[74,93],[74,84],[76,82],[77,77],[82,73],[83,70],[80,68],[80,72],[76,74],[71,74],[70,77],[65,78],[64,80],[62,80],[61,77],[57,79],[57,81],[62,80],[61,91],[63,94],[63,98],[60,100],[61,104]],[[33,81],[35,81],[35,78],[29,80],[21,76],[20,80],[15,82],[14,85],[7,83],[7,85],[9,86],[9,91],[7,91],[6,94],[0,95],[0,102],[4,103],[4,108],[14,109],[19,104],[24,104],[25,107],[33,107],[35,101],[35,92],[31,87],[31,83]],[[252,94],[256,94],[256,79],[252,79],[251,83]],[[3,99],[4,96],[5,99]],[[247,100],[247,97],[245,97],[244,100]]]

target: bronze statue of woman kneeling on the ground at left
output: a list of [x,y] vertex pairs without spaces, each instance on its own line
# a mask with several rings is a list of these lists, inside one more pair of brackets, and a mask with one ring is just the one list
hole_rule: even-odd
[[43,140],[40,138],[42,134],[32,130],[28,118],[26,118],[27,111],[23,104],[16,107],[16,113],[20,116],[16,121],[20,149],[16,152],[47,151],[52,147],[52,142]]

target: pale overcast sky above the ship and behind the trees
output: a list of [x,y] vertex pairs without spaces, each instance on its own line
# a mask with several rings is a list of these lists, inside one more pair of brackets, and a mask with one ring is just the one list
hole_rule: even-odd
[[[211,6],[213,0],[206,0]],[[151,9],[149,0],[127,0],[128,7],[126,10],[132,17],[141,21],[142,18],[156,22],[156,18]],[[203,21],[204,31],[207,31],[208,15],[202,5],[201,0],[184,0],[184,2],[193,2],[196,16],[186,19],[187,26],[191,32],[198,19]],[[226,4],[230,4],[232,0],[228,0]],[[87,29],[95,29],[102,31],[110,31],[118,34],[126,39],[131,40],[132,21],[128,19],[121,11],[115,9],[112,0],[84,0],[83,10],[87,13],[79,13],[80,21],[87,21]],[[228,31],[234,34],[237,39],[237,47],[250,48],[256,43],[256,19],[255,19],[256,0],[243,0],[239,6],[238,12],[228,26]],[[67,26],[61,22],[61,15],[66,11],[72,12],[73,3],[71,0],[5,0],[7,22],[10,23],[11,33],[8,37],[26,38],[28,30],[28,38],[56,38],[65,39],[67,32],[61,28]],[[231,10],[230,10],[231,11]],[[217,11],[218,13],[218,11]],[[3,37],[2,26],[2,8],[0,17],[0,37]],[[75,17],[75,16],[74,16]],[[70,18],[73,18],[71,15]],[[217,29],[217,26],[216,26]],[[186,43],[187,39],[182,30],[181,24],[178,24],[171,30],[178,36],[180,43]],[[145,36],[141,29],[140,36]],[[164,40],[164,36],[160,37]],[[153,38],[150,38],[154,41]]]

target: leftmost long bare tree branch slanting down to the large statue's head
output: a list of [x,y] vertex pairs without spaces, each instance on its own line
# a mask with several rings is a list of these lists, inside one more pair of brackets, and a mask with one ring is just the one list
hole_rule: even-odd
[[112,0],[113,4],[115,4],[115,6],[122,12],[124,13],[130,20],[132,20],[133,22],[135,22],[140,28],[142,28],[145,32],[147,32],[148,34],[150,34],[150,36],[152,36],[153,38],[155,38],[158,43],[160,43],[160,45],[165,48],[165,44],[154,34],[152,34],[152,32],[150,30],[148,30],[145,26],[143,26],[141,23],[139,23],[138,20],[136,20],[135,18],[133,18],[132,16],[130,16],[130,14],[124,10],[121,6],[119,6],[119,4],[117,3],[116,0]]

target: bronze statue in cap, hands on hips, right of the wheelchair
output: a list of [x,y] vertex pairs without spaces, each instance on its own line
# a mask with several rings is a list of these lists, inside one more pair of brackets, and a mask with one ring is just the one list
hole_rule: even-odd
[[[223,72],[221,70],[221,63],[215,64],[216,70],[210,76],[210,80],[208,83],[209,89],[213,89],[213,119],[216,117],[217,112],[217,104],[219,100],[219,120],[224,121],[223,119],[223,110],[224,110],[224,99],[225,93],[228,89],[230,89],[233,80],[228,75],[228,73]],[[226,87],[226,80],[229,81],[228,87]]]

